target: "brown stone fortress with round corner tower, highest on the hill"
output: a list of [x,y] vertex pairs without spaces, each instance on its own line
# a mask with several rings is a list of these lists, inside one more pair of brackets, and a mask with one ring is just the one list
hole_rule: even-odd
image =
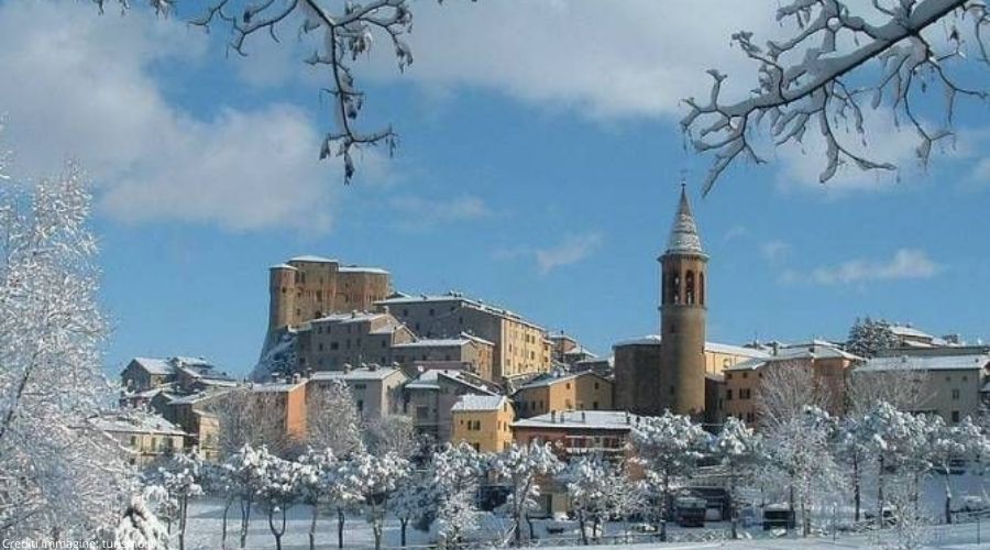
[[392,276],[378,267],[298,256],[268,270],[268,333],[329,314],[370,311],[392,293]]

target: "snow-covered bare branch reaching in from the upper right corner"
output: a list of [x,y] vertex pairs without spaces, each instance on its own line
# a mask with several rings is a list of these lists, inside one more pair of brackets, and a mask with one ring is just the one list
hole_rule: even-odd
[[[710,69],[714,84],[706,100],[686,99],[681,121],[694,148],[712,153],[714,162],[704,193],[740,156],[765,162],[754,146],[763,127],[777,145],[801,143],[809,130],[826,145],[822,183],[843,164],[864,170],[895,166],[870,158],[847,142],[853,135],[866,144],[866,109],[889,107],[917,134],[915,154],[928,162],[932,146],[952,135],[957,96],[987,99],[988,92],[961,84],[952,69],[971,56],[990,64],[983,33],[990,9],[983,0],[790,0],[777,12],[788,24],[783,40],[757,43],[751,32],[733,35],[746,56],[759,65],[758,85],[750,97],[726,100],[726,75]],[[936,30],[936,23],[941,31]],[[970,53],[967,53],[969,51]],[[876,62],[877,70],[862,67]],[[921,116],[915,96],[941,87],[944,121],[934,125]]]

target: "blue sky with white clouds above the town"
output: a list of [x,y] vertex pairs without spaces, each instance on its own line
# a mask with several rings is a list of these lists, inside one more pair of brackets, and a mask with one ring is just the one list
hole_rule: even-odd
[[[94,177],[111,369],[184,354],[246,372],[266,267],[304,253],[386,267],[402,290],[499,302],[607,353],[657,326],[681,170],[712,256],[710,339],[842,337],[862,315],[990,334],[986,106],[963,107],[957,146],[926,172],[881,120],[871,151],[900,177],[849,172],[823,187],[811,143],[698,196],[710,160],[685,150],[678,99],[704,94],[711,64],[745,68],[727,36],[772,28],[767,3],[705,19],[634,1],[526,14],[418,2],[413,69],[373,58],[361,73],[367,123],[391,121],[400,146],[370,153],[345,187],[316,161],[327,125],[298,47],[260,43],[240,61],[222,33],[175,19],[4,0],[0,138],[25,174],[75,156]],[[529,32],[540,24],[570,32]],[[590,28],[601,40],[581,38]]]

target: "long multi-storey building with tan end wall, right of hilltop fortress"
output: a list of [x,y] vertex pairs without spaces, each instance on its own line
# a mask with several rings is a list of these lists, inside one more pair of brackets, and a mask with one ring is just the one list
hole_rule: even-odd
[[377,302],[420,338],[455,338],[462,333],[494,344],[491,382],[550,370],[552,344],[547,331],[518,314],[460,293],[396,296]]

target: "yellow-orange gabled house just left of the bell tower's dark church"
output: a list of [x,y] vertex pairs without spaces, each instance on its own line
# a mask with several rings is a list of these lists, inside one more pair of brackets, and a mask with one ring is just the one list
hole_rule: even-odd
[[612,381],[594,372],[548,374],[519,387],[513,400],[519,418],[564,410],[612,410]]

